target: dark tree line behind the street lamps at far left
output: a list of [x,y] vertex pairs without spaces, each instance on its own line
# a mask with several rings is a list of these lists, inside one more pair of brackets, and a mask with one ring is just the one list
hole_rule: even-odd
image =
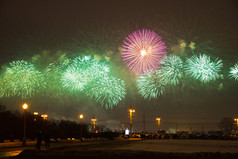
[[[0,142],[22,140],[24,114],[19,111],[0,112]],[[46,120],[30,112],[26,114],[26,138],[35,139],[37,133],[49,134],[51,138],[80,138],[81,125],[69,120]],[[87,136],[88,125],[82,124],[82,133]]]

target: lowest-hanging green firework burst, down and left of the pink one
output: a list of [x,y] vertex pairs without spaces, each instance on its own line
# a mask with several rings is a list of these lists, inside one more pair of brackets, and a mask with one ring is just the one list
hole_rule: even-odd
[[125,98],[125,82],[112,76],[104,76],[92,82],[87,95],[106,109],[112,108]]

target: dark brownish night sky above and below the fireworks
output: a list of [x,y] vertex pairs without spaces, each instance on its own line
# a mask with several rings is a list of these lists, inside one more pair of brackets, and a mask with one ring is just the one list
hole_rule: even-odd
[[[105,110],[74,97],[32,99],[31,111],[37,109],[52,117],[72,120],[84,112],[86,122],[94,113],[99,124],[116,129],[121,122],[129,127],[127,109],[133,106],[137,130],[142,129],[143,113],[151,131],[156,129],[158,115],[163,119],[162,128],[166,129],[174,128],[176,123],[185,129],[200,128],[202,122],[207,123],[205,127],[216,128],[214,123],[222,117],[238,115],[237,82],[225,79],[222,91],[198,86],[197,90],[172,90],[156,100],[145,101],[134,91],[135,77],[121,62],[119,47],[135,29],[148,28],[163,37],[168,53],[180,39],[186,43],[195,41],[199,52],[221,58],[227,69],[238,61],[237,15],[236,0],[2,0],[0,64],[30,60],[43,50],[49,50],[52,57],[59,50],[69,57],[78,56],[85,49],[100,55],[110,50],[115,70],[122,70],[118,76],[129,85],[126,100],[112,110]],[[14,105],[18,100],[2,102],[17,109]]]

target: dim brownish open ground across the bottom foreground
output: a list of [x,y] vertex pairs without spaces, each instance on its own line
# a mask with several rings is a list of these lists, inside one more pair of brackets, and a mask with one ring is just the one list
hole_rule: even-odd
[[[16,150],[16,149],[15,149]],[[9,151],[8,151],[9,152]],[[16,151],[15,151],[16,152]],[[12,150],[11,153],[14,154]],[[214,158],[238,158],[238,141],[230,140],[104,140],[97,142],[81,143],[53,143],[51,151],[34,151],[33,147],[28,147],[17,158],[121,158],[132,156],[142,158],[142,156],[168,156],[187,155],[193,158],[193,154],[204,156],[215,156]],[[230,156],[229,156],[230,155]],[[148,157],[147,156],[147,157]],[[195,155],[196,156],[196,155]],[[232,157],[233,156],[233,157]],[[201,156],[200,156],[201,157]],[[150,157],[149,157],[150,158]],[[163,158],[163,157],[162,157]],[[172,156],[171,158],[174,158]],[[186,157],[185,157],[186,158]]]

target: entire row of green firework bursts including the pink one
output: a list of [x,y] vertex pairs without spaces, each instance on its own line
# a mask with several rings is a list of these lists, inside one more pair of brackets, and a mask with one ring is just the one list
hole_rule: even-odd
[[[193,88],[192,91],[200,91],[203,86],[207,90],[215,87],[216,90],[222,90],[228,85],[223,85],[222,80],[227,79],[223,74],[227,73],[221,74],[221,71],[229,71],[229,77],[238,80],[238,63],[230,70],[221,70],[222,60],[206,54],[197,54],[197,50],[200,52],[201,45],[205,48],[205,44],[195,44],[194,41],[188,44],[188,41],[179,40],[179,44],[170,49],[174,54],[170,52],[166,55],[166,45],[162,38],[154,31],[142,29],[125,38],[121,54],[117,55],[110,50],[94,53],[89,49],[84,51],[88,55],[72,55],[68,58],[66,53],[60,52],[51,57],[48,51],[42,55],[44,58],[38,60],[40,62],[34,63],[35,65],[24,60],[12,61],[1,70],[0,98],[5,100],[6,97],[16,96],[34,99],[33,96],[43,95],[57,97],[63,101],[62,97],[72,96],[92,100],[106,109],[111,109],[126,97],[128,91],[125,81],[122,80],[124,78],[120,78],[128,75],[125,71],[128,69],[121,70],[118,76],[116,71],[124,67],[115,69],[116,65],[113,64],[118,62],[114,57],[120,55],[122,61],[134,73],[126,79],[136,79],[134,86],[137,87],[138,93],[148,100],[164,95],[165,90],[166,94],[177,93],[173,90],[186,91],[189,90],[188,87]],[[103,46],[102,50],[107,49]],[[186,58],[189,54],[193,56]],[[36,55],[33,59],[36,61],[38,56],[41,57]],[[36,67],[42,69],[42,72]],[[216,80],[217,82],[214,82]]]

